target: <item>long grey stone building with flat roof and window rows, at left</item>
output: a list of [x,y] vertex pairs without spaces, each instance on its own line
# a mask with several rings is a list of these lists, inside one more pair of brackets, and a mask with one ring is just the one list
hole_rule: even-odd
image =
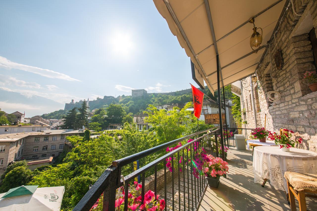
[[83,131],[46,130],[43,132],[1,134],[0,175],[13,161],[59,156],[64,149],[66,137],[80,133]]

